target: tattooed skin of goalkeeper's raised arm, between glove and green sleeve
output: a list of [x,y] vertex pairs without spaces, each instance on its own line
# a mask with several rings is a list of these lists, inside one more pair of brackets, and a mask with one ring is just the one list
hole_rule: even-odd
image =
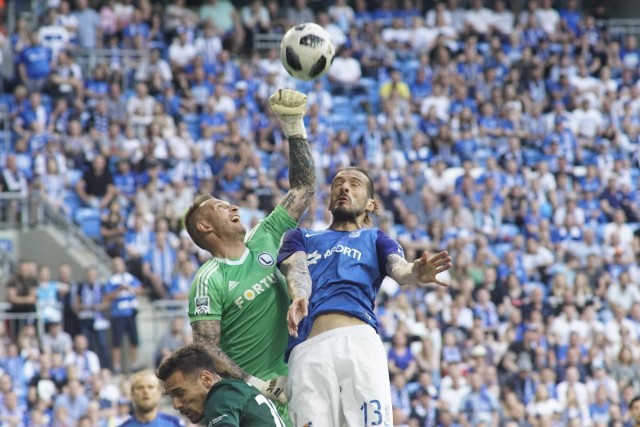
[[316,168],[306,139],[289,138],[289,183],[289,192],[280,204],[297,221],[316,191]]

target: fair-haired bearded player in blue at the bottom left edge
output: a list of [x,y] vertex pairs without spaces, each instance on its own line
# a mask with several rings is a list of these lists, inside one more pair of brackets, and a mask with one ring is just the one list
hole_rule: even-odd
[[160,412],[162,388],[160,380],[152,371],[141,371],[131,378],[131,400],[133,415],[120,427],[181,427],[184,422],[178,417]]

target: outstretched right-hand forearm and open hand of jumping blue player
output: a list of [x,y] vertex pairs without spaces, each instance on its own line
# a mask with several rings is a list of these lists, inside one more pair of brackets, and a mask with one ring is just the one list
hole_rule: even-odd
[[439,286],[448,286],[436,278],[439,273],[451,268],[451,257],[447,251],[442,251],[432,258],[425,251],[414,262],[407,262],[400,255],[391,254],[387,257],[387,273],[389,277],[401,285],[419,285],[435,283]]

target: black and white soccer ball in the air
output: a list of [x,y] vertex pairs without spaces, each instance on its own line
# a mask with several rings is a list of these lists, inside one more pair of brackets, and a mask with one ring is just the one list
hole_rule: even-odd
[[300,80],[317,79],[326,73],[335,52],[329,33],[312,22],[290,28],[280,43],[282,65]]

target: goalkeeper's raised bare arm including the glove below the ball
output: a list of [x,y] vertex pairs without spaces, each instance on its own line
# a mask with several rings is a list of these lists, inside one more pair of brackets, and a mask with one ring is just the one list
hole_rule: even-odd
[[296,221],[309,206],[316,189],[316,168],[302,118],[307,96],[292,89],[279,89],[269,97],[269,105],[282,121],[289,141],[289,191],[280,201]]

